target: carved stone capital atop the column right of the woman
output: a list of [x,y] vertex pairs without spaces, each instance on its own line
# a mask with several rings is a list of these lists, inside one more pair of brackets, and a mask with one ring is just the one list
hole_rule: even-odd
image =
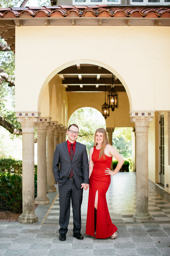
[[149,123],[152,121],[153,117],[131,117],[131,122],[135,123],[135,133],[148,133]]

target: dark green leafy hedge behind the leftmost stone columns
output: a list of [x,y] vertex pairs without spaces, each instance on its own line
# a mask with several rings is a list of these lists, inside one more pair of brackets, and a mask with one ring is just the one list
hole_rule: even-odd
[[[17,213],[22,212],[22,161],[0,158],[0,195]],[[35,197],[37,196],[37,166],[35,165]]]

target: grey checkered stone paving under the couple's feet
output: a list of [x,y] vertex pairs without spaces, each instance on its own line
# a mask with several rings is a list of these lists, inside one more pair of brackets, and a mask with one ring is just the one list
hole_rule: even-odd
[[66,241],[59,241],[59,195],[48,193],[49,205],[39,205],[38,223],[0,223],[0,256],[102,256],[102,255],[170,255],[170,195],[149,182],[149,211],[152,222],[132,222],[135,213],[135,173],[118,173],[111,177],[107,203],[112,222],[118,227],[114,240],[95,239],[85,234],[88,191],[83,192],[82,229],[84,240],[72,236],[70,214]]

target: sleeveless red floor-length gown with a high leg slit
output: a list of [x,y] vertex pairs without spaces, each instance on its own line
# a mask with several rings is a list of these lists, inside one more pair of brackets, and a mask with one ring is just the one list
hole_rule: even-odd
[[96,219],[96,238],[108,238],[113,235],[117,227],[112,223],[106,201],[106,192],[110,185],[110,175],[105,175],[104,170],[110,168],[112,157],[106,156],[98,160],[100,150],[94,147],[92,161],[93,171],[89,181],[89,201],[87,209],[86,234],[94,236],[94,200],[98,190],[98,208]]

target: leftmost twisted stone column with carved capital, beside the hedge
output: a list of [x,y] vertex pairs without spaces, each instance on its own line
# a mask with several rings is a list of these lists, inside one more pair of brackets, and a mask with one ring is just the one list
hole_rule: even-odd
[[22,201],[23,212],[19,222],[23,224],[38,222],[34,210],[34,133],[37,117],[18,117],[22,125]]

